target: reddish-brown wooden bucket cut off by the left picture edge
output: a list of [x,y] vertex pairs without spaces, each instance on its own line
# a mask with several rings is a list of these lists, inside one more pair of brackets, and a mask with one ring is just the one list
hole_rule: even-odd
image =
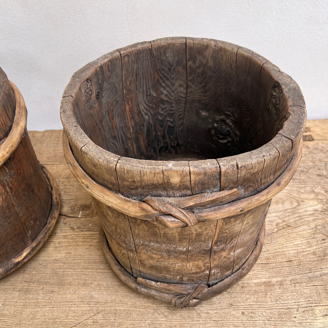
[[40,166],[24,99],[0,68],[0,278],[44,244],[59,215],[56,181]]

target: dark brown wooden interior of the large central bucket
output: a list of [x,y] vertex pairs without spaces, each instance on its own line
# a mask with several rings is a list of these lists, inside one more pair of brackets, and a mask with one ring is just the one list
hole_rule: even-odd
[[76,120],[98,146],[138,159],[261,147],[282,128],[288,100],[267,65],[237,49],[179,39],[112,52],[80,84]]

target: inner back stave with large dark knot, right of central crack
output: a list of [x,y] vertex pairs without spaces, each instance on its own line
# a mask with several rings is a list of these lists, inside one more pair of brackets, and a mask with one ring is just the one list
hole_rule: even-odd
[[233,127],[237,49],[217,40],[186,39],[185,147],[200,159],[237,153],[240,136]]

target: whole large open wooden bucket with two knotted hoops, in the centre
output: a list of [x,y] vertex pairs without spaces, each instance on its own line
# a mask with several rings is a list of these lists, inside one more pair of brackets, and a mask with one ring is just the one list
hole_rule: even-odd
[[260,55],[175,37],[74,73],[61,120],[115,273],[186,307],[255,263],[271,199],[300,161],[306,111],[297,83]]

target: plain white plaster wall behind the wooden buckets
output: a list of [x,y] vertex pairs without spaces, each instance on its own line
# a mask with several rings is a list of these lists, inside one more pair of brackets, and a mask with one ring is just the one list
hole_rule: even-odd
[[309,119],[328,118],[327,0],[0,0],[0,66],[25,98],[29,130],[62,128],[62,93],[79,68],[166,36],[258,52],[297,81]]

